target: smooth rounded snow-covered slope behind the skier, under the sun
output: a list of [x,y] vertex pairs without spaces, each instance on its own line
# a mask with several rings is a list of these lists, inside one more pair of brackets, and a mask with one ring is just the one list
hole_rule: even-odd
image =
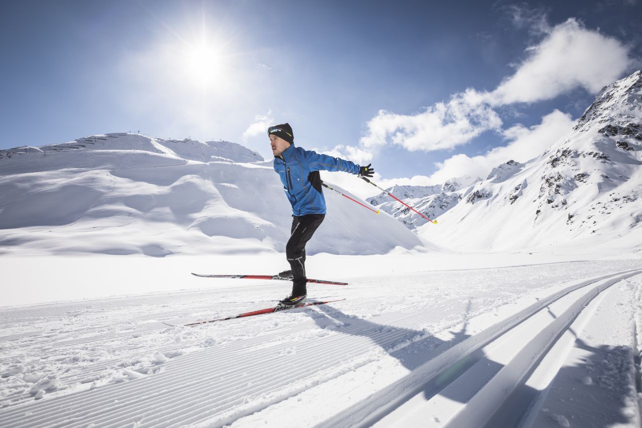
[[[284,251],[290,236],[290,205],[271,163],[227,141],[103,134],[3,150],[0,193],[2,253]],[[326,200],[309,254],[424,246],[388,215]]]

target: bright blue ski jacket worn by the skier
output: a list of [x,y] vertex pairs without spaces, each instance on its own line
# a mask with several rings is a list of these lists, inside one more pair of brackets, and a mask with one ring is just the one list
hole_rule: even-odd
[[274,157],[274,170],[279,173],[283,190],[292,206],[292,214],[325,214],[320,170],[359,174],[360,165],[338,157],[318,154],[291,144],[281,156]]

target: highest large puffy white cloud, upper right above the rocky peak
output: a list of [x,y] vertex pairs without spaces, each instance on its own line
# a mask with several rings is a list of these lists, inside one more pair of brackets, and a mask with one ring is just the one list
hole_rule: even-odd
[[492,105],[550,100],[583,87],[596,93],[612,84],[632,62],[619,40],[587,30],[575,19],[555,26],[514,75],[488,94]]

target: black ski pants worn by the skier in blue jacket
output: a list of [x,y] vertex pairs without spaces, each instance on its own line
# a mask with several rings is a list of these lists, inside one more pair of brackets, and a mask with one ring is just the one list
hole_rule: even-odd
[[308,294],[306,289],[306,283],[308,283],[308,278],[306,278],[306,244],[324,218],[325,214],[292,216],[291,235],[285,246],[285,254],[292,269],[293,296]]

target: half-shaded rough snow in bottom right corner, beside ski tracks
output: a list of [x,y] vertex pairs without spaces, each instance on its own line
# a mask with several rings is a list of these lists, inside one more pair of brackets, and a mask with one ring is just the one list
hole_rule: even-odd
[[[640,425],[636,328],[621,319],[633,319],[641,285],[637,277],[611,287],[560,338],[566,346],[554,362],[557,375],[540,381],[541,410],[528,415],[533,426],[553,427],[561,418],[575,426]],[[529,383],[535,385],[535,380]],[[593,399],[587,402],[586,397]]]

